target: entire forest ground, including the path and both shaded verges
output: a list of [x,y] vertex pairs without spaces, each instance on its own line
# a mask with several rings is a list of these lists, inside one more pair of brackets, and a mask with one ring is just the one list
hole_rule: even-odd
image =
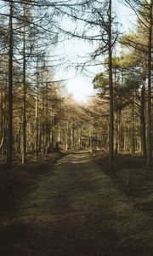
[[118,163],[82,151],[1,170],[0,255],[153,255],[153,175]]

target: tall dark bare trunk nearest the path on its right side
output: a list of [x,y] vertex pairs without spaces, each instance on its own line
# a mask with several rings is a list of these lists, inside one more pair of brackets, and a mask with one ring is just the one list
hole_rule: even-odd
[[112,78],[112,44],[111,44],[111,0],[109,6],[109,87],[110,87],[110,130],[109,130],[109,162],[113,166],[114,156],[114,108],[113,108],[113,78]]

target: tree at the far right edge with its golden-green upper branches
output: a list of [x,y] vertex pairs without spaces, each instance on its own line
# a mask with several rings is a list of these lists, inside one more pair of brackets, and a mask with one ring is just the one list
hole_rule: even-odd
[[138,17],[138,31],[137,38],[128,38],[128,43],[139,52],[144,52],[146,57],[146,71],[148,80],[148,96],[147,96],[147,167],[151,166],[151,152],[152,152],[152,122],[151,122],[151,71],[152,71],[152,0],[140,1],[133,0],[126,3],[134,10]]

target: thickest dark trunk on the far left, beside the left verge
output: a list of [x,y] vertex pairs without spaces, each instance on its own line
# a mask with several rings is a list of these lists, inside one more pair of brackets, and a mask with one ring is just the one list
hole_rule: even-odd
[[9,1],[9,64],[8,64],[8,141],[7,166],[12,166],[13,149],[13,1]]

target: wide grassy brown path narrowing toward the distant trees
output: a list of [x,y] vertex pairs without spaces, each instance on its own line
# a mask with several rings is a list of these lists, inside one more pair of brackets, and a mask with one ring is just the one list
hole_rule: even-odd
[[3,230],[0,254],[153,255],[151,222],[87,152],[68,154],[20,201]]

